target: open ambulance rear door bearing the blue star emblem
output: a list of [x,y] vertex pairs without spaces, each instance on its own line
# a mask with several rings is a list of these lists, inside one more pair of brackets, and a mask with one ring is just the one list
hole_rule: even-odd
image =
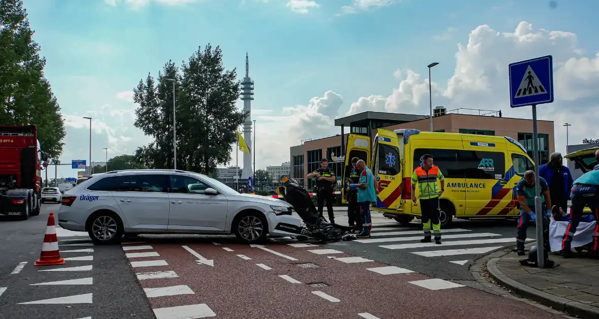
[[[403,145],[401,145],[403,146]],[[401,209],[401,152],[397,133],[379,128],[374,140],[373,165],[377,211],[397,213]]]

